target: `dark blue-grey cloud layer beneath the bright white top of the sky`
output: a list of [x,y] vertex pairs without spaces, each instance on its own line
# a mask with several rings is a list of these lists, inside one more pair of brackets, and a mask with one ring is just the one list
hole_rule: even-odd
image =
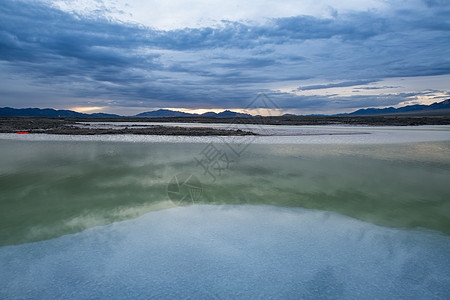
[[[387,77],[450,74],[450,5],[424,3],[408,9],[392,5],[384,14],[296,16],[256,25],[223,21],[214,28],[163,31],[66,13],[34,1],[3,0],[0,72],[65,89],[72,98],[223,108],[244,107],[257,91],[277,82],[340,81],[299,88],[314,90]],[[2,84],[8,83],[0,88]],[[274,96],[286,107],[400,101]],[[13,96],[8,94],[8,99]]]

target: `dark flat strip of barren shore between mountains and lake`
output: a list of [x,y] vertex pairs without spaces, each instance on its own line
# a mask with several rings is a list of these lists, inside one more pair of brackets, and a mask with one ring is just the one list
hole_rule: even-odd
[[[92,128],[83,123],[146,123],[120,128]],[[149,125],[156,123],[155,125]],[[158,124],[159,123],[159,124]],[[164,123],[189,123],[193,127],[165,126]],[[30,134],[59,135],[171,135],[171,136],[260,136],[266,135],[251,129],[210,128],[195,126],[203,124],[235,124],[240,125],[350,125],[350,126],[418,126],[418,125],[450,125],[450,116],[314,116],[314,117],[254,117],[254,118],[208,118],[208,117],[170,117],[170,118],[49,118],[49,117],[0,117],[0,133],[24,132]],[[139,128],[137,128],[139,127]],[[361,133],[362,134],[362,133]],[[303,134],[300,134],[303,135]],[[306,134],[309,135],[309,134]],[[316,134],[313,134],[316,135]],[[344,135],[334,133],[333,135]]]

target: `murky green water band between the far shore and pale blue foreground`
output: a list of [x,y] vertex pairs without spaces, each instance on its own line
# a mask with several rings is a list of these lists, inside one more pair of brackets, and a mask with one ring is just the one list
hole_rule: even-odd
[[173,207],[167,186],[179,173],[201,181],[198,203],[305,207],[450,234],[450,142],[252,144],[215,181],[195,160],[205,146],[0,140],[0,245]]

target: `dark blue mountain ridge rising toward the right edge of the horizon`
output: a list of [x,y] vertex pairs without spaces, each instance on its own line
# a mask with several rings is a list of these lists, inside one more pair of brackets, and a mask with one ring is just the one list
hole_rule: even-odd
[[349,114],[351,116],[361,115],[417,115],[417,114],[450,114],[450,99],[436,102],[430,105],[408,105],[394,108],[364,108]]

